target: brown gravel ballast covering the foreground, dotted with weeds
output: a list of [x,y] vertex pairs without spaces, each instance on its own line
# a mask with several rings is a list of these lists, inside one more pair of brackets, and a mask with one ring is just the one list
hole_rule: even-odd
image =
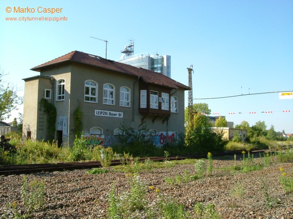
[[[203,202],[206,205],[213,203],[219,215],[227,219],[293,219],[293,194],[285,193],[279,181],[280,167],[283,167],[287,177],[292,178],[293,163],[273,164],[250,173],[224,170],[224,167],[240,162],[213,160],[211,176],[187,183],[169,184],[165,179],[183,176],[186,170],[190,175],[195,174],[194,164],[177,164],[137,175],[147,187],[155,186],[160,194],[182,203],[193,218],[196,218],[194,204]],[[129,189],[127,175],[113,169],[103,174],[87,174],[86,170],[76,170],[25,175],[29,182],[37,179],[45,183],[45,207],[34,211],[32,218],[106,218],[108,195],[113,182],[116,193],[122,194]],[[0,218],[9,218],[9,206],[12,203],[19,214],[25,212],[21,200],[22,177],[0,177]],[[237,196],[233,191],[239,185],[243,193]],[[147,201],[151,203],[154,199],[156,194],[148,189]]]

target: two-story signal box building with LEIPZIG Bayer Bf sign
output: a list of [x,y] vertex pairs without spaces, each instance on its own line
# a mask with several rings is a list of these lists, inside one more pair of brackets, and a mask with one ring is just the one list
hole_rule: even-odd
[[84,136],[91,144],[115,142],[123,123],[137,129],[144,122],[158,144],[184,133],[184,95],[189,87],[163,74],[79,51],[31,70],[40,75],[23,79],[23,138],[49,138],[42,99],[57,110],[54,135],[63,145],[75,139],[77,108],[83,112]]

